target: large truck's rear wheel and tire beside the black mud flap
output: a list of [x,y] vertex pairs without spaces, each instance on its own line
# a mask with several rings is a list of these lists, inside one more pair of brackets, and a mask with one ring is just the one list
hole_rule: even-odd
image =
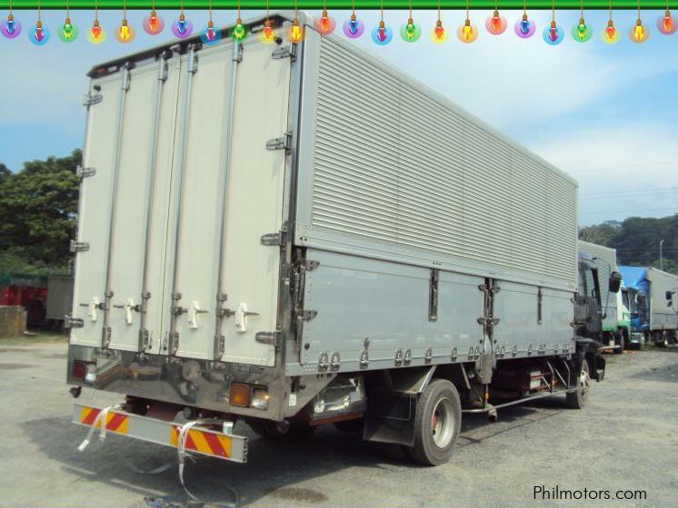
[[414,445],[407,448],[419,464],[440,465],[452,455],[462,427],[459,392],[446,379],[436,379],[419,396],[414,415]]

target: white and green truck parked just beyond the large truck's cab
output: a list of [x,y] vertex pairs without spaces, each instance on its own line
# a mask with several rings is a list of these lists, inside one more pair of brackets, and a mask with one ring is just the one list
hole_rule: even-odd
[[[598,268],[601,280],[610,277],[613,271],[619,271],[617,266],[617,251],[603,245],[579,240],[579,251],[585,252],[593,258]],[[603,349],[622,353],[629,345],[631,334],[631,312],[629,311],[628,293],[622,285],[618,293],[610,293],[601,286],[601,302],[603,305],[603,330],[601,346]]]

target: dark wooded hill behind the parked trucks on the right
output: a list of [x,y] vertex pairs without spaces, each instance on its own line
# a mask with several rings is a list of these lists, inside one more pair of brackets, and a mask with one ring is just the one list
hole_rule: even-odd
[[659,268],[659,242],[663,239],[663,269],[678,275],[678,214],[661,219],[629,217],[579,231],[579,238],[617,249],[617,262]]

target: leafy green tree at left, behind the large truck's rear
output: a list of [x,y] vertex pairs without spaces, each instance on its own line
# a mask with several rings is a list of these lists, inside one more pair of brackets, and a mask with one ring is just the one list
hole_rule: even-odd
[[64,271],[75,238],[79,150],[25,162],[17,173],[0,164],[0,271]]

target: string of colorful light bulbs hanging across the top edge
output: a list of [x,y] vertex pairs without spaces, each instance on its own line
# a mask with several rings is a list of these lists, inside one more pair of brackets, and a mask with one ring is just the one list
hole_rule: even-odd
[[[21,2],[21,0],[18,1]],[[37,20],[35,25],[33,25],[28,31],[28,38],[35,45],[45,45],[50,38],[50,31],[43,24],[41,19],[41,12],[43,8],[42,4],[44,1],[45,0],[37,0]],[[106,40],[106,32],[99,22],[98,15],[100,3],[102,0],[94,1],[95,19],[92,26],[86,32],[86,39],[92,44],[102,44]],[[122,0],[123,19],[120,24],[115,26],[114,32],[115,39],[122,44],[127,44],[135,38],[135,29],[127,21],[128,1],[129,0]],[[245,38],[247,38],[250,30],[247,25],[243,24],[243,20],[240,17],[241,0],[236,1],[237,17],[235,19],[234,26],[229,31],[229,36],[236,41],[242,42]],[[15,4],[16,2],[17,0],[9,0],[9,14],[2,24],[0,24],[0,33],[2,33],[7,39],[15,39],[22,32],[22,25],[17,19],[15,19],[13,11],[13,3]],[[184,14],[184,0],[180,0],[180,2],[179,16],[171,24],[171,31],[175,37],[179,39],[185,39],[193,34],[194,27]],[[401,26],[400,36],[406,43],[415,43],[421,37],[423,27],[421,24],[414,22],[413,0],[407,0],[407,2],[409,16],[406,23]],[[78,38],[79,34],[77,26],[72,23],[70,17],[72,3],[75,3],[74,0],[65,0],[65,21],[63,24],[60,24],[57,27],[57,36],[63,43],[74,42]],[[159,2],[157,0],[151,0],[150,13],[144,18],[142,27],[144,28],[146,34],[161,34],[165,29],[165,22],[163,18],[158,15],[155,10],[156,4],[158,3]],[[471,44],[477,39],[479,31],[471,21],[470,0],[464,0],[464,3],[466,17],[464,19],[464,24],[459,26],[456,34],[459,41],[464,44]],[[547,24],[543,28],[543,40],[546,44],[561,44],[565,38],[565,30],[563,30],[563,27],[556,22],[555,0],[551,0],[550,4],[552,19],[551,23]],[[333,16],[328,14],[326,0],[323,0],[322,6],[322,14],[314,19],[314,29],[319,34],[329,35],[334,33],[336,21]],[[220,40],[222,33],[221,30],[214,28],[213,0],[209,0],[208,7],[209,20],[206,26],[200,32],[200,39],[204,44],[214,44]],[[534,23],[533,19],[527,15],[527,7],[527,0],[523,0],[523,15],[513,25],[515,34],[522,39],[531,38],[536,32],[536,24]],[[278,31],[274,28],[274,24],[272,24],[271,20],[269,19],[269,8],[270,0],[265,0],[266,20],[264,22],[264,28],[258,32],[258,39],[264,44],[272,43],[275,40],[276,32]],[[298,0],[294,0],[294,21],[286,29],[284,34],[286,38],[293,44],[298,44],[304,40],[304,24],[299,22],[298,8]],[[448,33],[444,28],[443,19],[441,16],[441,0],[437,0],[436,8],[438,15],[434,26],[431,27],[430,38],[435,44],[442,44],[447,41]],[[374,41],[374,44],[385,45],[389,44],[393,40],[393,30],[384,21],[384,0],[379,0],[379,9],[381,13],[380,20],[371,31],[371,37]],[[593,28],[587,24],[584,19],[584,0],[579,0],[579,10],[580,18],[578,23],[573,25],[571,34],[575,42],[586,43],[593,37]],[[605,44],[615,44],[619,42],[620,37],[616,27],[613,24],[612,0],[609,0],[607,10],[609,11],[609,20],[601,32],[601,39]],[[641,0],[636,0],[634,10],[637,10],[638,17],[635,21],[635,24],[630,27],[629,39],[635,44],[643,44],[645,41],[647,41],[650,35],[650,30],[645,24],[643,24],[641,17]],[[487,17],[484,25],[488,34],[501,35],[506,31],[508,23],[504,15],[500,14],[499,0],[494,0],[494,11]],[[657,19],[657,29],[661,34],[664,35],[674,34],[676,30],[678,30],[678,19],[676,19],[671,13],[669,0],[666,0],[665,11],[663,15]],[[364,34],[364,23],[358,19],[358,16],[355,13],[355,0],[351,0],[351,15],[343,24],[343,32],[346,37],[352,39],[359,38]]]

